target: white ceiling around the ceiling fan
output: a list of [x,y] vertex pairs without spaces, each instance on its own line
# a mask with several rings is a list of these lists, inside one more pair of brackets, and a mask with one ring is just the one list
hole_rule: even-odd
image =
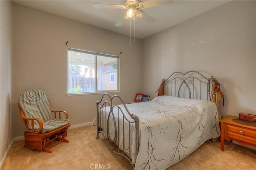
[[[174,0],[170,4],[143,9],[156,22],[149,25],[138,19],[135,22],[135,37],[144,39],[228,1]],[[131,27],[130,20],[125,21],[121,27],[115,26],[126,10],[93,8],[93,3],[123,5],[126,2],[124,0],[14,0],[14,2],[123,35],[130,36],[131,29],[131,36],[134,35],[133,21]]]

